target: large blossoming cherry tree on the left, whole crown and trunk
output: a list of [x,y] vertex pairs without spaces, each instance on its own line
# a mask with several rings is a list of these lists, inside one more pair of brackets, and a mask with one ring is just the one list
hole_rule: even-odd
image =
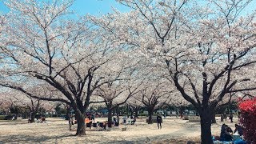
[[[90,97],[99,86],[116,80],[105,75],[114,69],[106,66],[118,58],[118,50],[116,41],[104,37],[86,18],[69,17],[72,3],[6,1],[10,13],[1,38],[0,83],[32,98],[71,106],[78,121],[76,135],[85,135]],[[50,90],[46,94],[29,90],[39,85]]]

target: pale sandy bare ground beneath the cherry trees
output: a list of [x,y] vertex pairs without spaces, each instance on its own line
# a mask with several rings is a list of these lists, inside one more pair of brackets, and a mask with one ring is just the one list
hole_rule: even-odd
[[[95,118],[103,122],[106,118]],[[234,123],[238,122],[234,118]],[[219,135],[223,122],[217,118],[212,125],[212,134]],[[234,123],[226,122],[232,130]],[[61,118],[46,118],[46,123],[27,123],[27,120],[12,122],[0,121],[0,143],[186,143],[200,142],[200,124],[188,122],[181,118],[163,119],[162,129],[156,123],[148,125],[146,118],[138,118],[135,125],[124,125],[111,128],[110,131],[98,131],[97,128],[86,128],[86,136],[76,137],[75,129],[69,130],[68,121]]]

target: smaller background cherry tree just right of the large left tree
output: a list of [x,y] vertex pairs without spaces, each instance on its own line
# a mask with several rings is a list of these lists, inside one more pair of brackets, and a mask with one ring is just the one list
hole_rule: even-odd
[[[132,53],[132,50],[126,50],[125,53]],[[126,55],[126,56],[125,56]],[[136,58],[134,54],[124,54],[122,59],[119,59],[115,63],[115,70],[112,70],[112,77],[110,79],[119,79],[118,81],[109,82],[106,85],[98,87],[95,95],[102,98],[102,102],[105,102],[108,110],[108,126],[111,127],[112,116],[114,110],[117,110],[119,106],[122,106],[127,100],[137,94],[143,83],[142,78],[139,76],[138,62],[140,60]],[[111,67],[111,66],[110,66]],[[119,68],[118,68],[119,67]],[[119,117],[118,117],[119,119]],[[119,121],[118,121],[119,122]]]

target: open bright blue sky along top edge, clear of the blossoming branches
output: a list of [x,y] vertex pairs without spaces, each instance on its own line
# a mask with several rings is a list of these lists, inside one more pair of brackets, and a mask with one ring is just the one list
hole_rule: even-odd
[[[115,0],[76,0],[71,9],[75,10],[76,13],[80,15],[102,15],[111,12],[112,7],[124,12],[129,10],[129,8],[122,6]],[[6,13],[7,11],[8,8],[4,6],[2,0],[0,0],[0,12]]]

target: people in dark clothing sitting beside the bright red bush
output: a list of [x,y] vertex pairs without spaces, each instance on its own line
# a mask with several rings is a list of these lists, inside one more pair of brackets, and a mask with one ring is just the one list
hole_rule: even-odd
[[[242,136],[242,126],[239,126],[238,124],[235,124],[235,130],[234,133],[238,133],[240,136]],[[233,140],[233,130],[230,128],[230,126],[227,126],[225,123],[222,125],[221,134],[220,134],[220,141],[227,141],[230,142]]]

